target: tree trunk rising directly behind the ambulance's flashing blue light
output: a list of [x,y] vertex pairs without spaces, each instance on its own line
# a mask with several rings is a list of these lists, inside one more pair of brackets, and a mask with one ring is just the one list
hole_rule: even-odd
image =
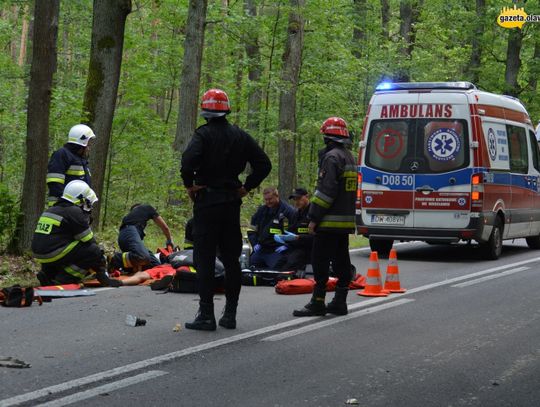
[[415,32],[414,25],[418,21],[419,4],[417,0],[401,0],[399,5],[399,16],[401,23],[399,33],[401,36],[401,46],[399,53],[402,56],[404,66],[398,68],[398,72],[394,76],[396,82],[410,81],[409,64],[414,48]]

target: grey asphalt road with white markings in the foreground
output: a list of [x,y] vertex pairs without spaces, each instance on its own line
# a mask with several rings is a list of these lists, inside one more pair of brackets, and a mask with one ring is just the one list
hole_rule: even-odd
[[[0,406],[540,405],[540,251],[396,249],[408,291],[351,291],[346,317],[294,318],[309,295],[272,287],[243,287],[238,329],[216,332],[174,332],[196,296],[148,287],[2,308],[0,357],[31,367],[0,367]],[[369,252],[351,256],[365,274]]]

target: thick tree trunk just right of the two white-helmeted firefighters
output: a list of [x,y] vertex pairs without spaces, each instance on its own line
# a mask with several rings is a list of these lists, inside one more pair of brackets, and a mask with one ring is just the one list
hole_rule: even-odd
[[[111,129],[118,95],[124,29],[131,12],[131,0],[94,0],[90,65],[84,94],[83,115],[94,130],[90,168],[92,189],[101,198]],[[99,228],[100,203],[93,211]]]

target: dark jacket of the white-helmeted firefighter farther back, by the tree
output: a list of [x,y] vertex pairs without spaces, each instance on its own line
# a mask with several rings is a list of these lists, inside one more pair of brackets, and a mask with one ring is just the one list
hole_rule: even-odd
[[66,143],[56,150],[47,167],[47,187],[49,196],[47,202],[53,205],[62,196],[64,187],[70,181],[81,180],[92,186],[91,174],[88,168],[88,160],[77,154],[82,146],[74,143]]

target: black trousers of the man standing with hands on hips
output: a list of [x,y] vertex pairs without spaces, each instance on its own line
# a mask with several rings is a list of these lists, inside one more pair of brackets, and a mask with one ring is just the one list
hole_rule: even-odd
[[225,267],[225,297],[237,304],[241,287],[240,254],[242,231],[240,205],[234,190],[200,191],[193,205],[193,257],[199,280],[201,302],[214,301],[215,259]]

